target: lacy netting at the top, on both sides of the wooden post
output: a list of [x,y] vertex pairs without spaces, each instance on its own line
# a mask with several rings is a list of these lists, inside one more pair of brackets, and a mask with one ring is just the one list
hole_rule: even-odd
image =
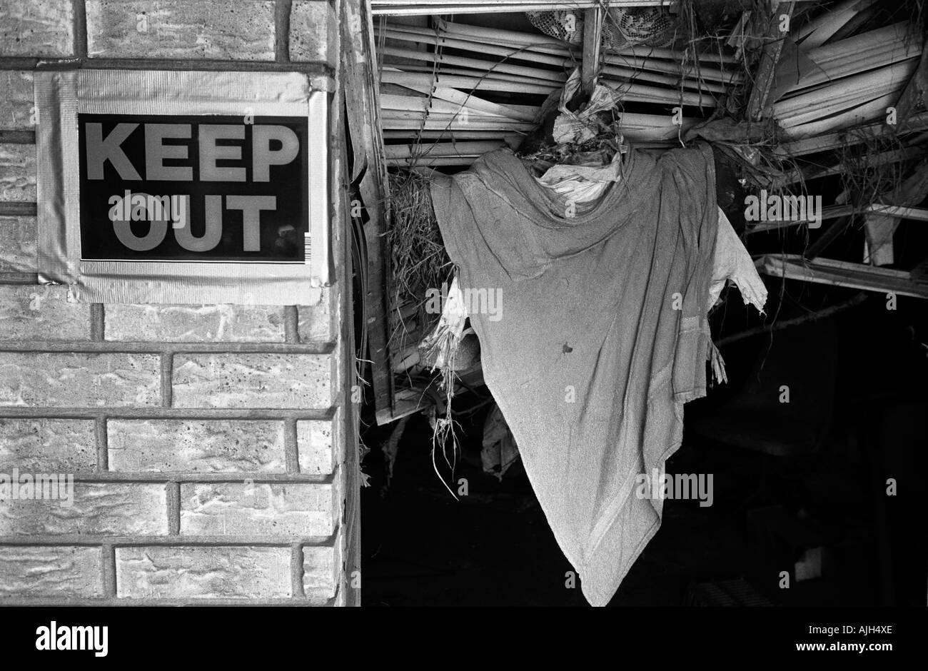
[[[539,31],[573,45],[583,42],[583,14],[570,9],[525,12]],[[661,7],[610,7],[602,25],[607,49],[630,45],[669,46],[674,42],[677,18]]]

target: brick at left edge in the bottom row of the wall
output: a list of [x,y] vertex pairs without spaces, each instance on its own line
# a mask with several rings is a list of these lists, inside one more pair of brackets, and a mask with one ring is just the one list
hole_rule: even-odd
[[100,548],[0,546],[0,603],[102,597],[100,562]]

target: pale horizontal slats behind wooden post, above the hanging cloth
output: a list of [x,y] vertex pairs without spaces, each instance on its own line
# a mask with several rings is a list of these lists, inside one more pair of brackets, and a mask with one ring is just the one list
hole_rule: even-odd
[[[445,19],[434,28],[379,23],[380,117],[393,166],[469,165],[486,150],[517,147],[582,58],[577,46],[540,33]],[[744,76],[721,47],[694,61],[677,49],[629,46],[600,54],[599,82],[623,103],[660,106],[619,115],[625,137],[660,147],[711,114]],[[536,104],[490,101],[513,94]],[[687,110],[679,123],[676,107]]]

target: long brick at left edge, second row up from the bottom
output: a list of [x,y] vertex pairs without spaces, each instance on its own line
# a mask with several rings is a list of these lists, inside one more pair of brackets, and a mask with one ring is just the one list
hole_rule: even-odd
[[[19,477],[21,481],[21,469]],[[72,495],[71,504],[60,499],[0,501],[0,536],[168,533],[164,484],[73,483]]]

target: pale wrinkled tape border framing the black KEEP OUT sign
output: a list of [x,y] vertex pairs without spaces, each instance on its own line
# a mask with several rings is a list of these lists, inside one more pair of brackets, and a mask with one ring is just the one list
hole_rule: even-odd
[[[313,303],[329,285],[328,95],[299,72],[36,71],[39,282],[92,303]],[[309,265],[81,261],[78,112],[308,119]],[[307,268],[309,272],[307,273]]]

